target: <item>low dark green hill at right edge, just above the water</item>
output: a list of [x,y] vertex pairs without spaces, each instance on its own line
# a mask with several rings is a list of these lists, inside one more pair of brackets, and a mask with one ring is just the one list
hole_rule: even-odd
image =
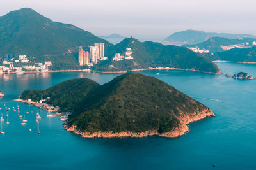
[[225,52],[214,53],[211,57],[212,60],[256,62],[256,47],[247,49],[233,48]]

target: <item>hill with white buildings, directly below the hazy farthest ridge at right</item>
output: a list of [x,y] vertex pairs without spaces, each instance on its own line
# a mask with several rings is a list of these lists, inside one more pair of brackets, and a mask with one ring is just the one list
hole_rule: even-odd
[[[255,44],[253,45],[253,42]],[[209,50],[210,52],[223,52],[225,50],[230,50],[230,48],[251,48],[256,45],[256,38],[237,38],[228,39],[221,37],[212,37],[207,41],[194,45],[182,45],[184,47],[200,48],[202,50]]]

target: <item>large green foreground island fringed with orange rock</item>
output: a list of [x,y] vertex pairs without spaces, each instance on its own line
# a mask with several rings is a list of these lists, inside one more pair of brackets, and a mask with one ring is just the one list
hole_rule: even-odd
[[65,129],[84,138],[177,137],[189,131],[189,123],[215,116],[174,87],[139,73],[118,76],[104,85],[73,79],[20,96],[33,101],[46,97],[45,103],[72,111]]

